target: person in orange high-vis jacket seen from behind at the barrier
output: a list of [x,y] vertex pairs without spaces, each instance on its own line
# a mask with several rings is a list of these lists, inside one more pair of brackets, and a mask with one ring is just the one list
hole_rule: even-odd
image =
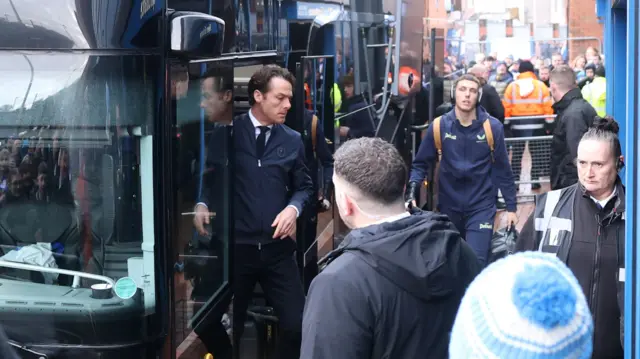
[[[545,119],[527,119],[526,117],[553,115],[553,108],[551,107],[553,101],[549,88],[536,78],[533,71],[531,62],[522,61],[518,79],[510,83],[504,93],[502,102],[504,104],[505,118],[525,118],[505,120],[505,126],[509,126],[514,137],[544,136]],[[513,145],[511,164],[516,181],[520,180],[525,144],[525,141],[517,141]],[[545,162],[544,150],[539,146],[531,146],[529,151],[531,152],[531,180],[536,181],[532,183],[531,187],[535,190],[541,187],[537,180],[541,175],[543,163]]]

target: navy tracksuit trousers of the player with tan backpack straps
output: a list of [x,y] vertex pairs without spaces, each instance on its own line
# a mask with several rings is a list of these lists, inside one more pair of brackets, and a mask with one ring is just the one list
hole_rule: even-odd
[[462,238],[473,249],[482,267],[487,265],[493,238],[493,223],[496,218],[496,206],[488,206],[468,212],[458,212],[447,208],[441,213],[449,216]]

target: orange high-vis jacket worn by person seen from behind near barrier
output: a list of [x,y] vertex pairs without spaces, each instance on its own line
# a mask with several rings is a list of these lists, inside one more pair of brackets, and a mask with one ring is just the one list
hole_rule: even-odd
[[544,82],[532,72],[518,75],[504,91],[504,117],[553,115],[553,100]]

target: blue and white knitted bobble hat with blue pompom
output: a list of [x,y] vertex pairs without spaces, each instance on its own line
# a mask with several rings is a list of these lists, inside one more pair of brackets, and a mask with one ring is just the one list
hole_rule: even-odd
[[593,319],[578,281],[556,256],[510,255],[487,267],[462,299],[451,359],[589,359]]

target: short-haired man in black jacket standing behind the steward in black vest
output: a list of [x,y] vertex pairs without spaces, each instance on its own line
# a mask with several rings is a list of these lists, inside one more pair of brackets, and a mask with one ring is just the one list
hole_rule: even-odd
[[[578,182],[575,159],[578,143],[587,132],[596,110],[582,98],[576,86],[575,72],[568,66],[556,67],[551,72],[550,92],[555,100],[557,114],[551,144],[551,189],[560,189]],[[547,126],[550,124],[547,123]]]

